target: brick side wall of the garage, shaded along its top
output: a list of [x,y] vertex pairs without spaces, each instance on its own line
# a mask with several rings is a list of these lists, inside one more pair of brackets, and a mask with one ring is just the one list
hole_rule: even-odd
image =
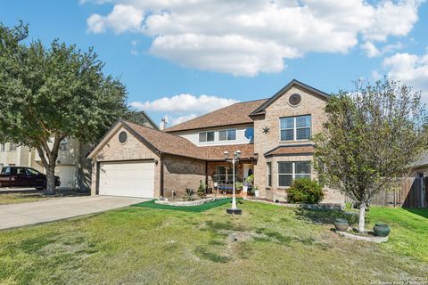
[[171,199],[172,191],[176,197],[185,196],[186,189],[198,190],[205,183],[205,161],[177,156],[166,156],[163,164],[163,197]]

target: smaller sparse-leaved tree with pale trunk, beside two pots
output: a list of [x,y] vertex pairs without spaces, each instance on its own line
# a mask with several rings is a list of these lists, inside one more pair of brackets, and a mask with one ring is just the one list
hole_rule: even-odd
[[352,92],[332,97],[327,121],[315,135],[315,167],[322,180],[359,203],[358,231],[379,191],[407,175],[428,142],[427,112],[420,93],[386,77],[358,81]]

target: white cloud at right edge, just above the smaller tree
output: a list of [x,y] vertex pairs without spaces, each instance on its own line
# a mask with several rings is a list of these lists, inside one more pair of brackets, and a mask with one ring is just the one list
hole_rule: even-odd
[[383,60],[383,67],[388,77],[422,90],[428,100],[428,51],[423,55],[396,53]]

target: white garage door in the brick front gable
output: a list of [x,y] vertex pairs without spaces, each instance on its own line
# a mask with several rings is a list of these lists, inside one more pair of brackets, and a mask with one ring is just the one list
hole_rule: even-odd
[[154,162],[101,162],[100,195],[154,197]]

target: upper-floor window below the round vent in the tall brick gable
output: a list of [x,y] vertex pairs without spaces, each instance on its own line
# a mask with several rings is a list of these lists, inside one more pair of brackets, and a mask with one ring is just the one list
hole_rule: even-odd
[[310,125],[310,115],[280,118],[281,141],[309,140]]

